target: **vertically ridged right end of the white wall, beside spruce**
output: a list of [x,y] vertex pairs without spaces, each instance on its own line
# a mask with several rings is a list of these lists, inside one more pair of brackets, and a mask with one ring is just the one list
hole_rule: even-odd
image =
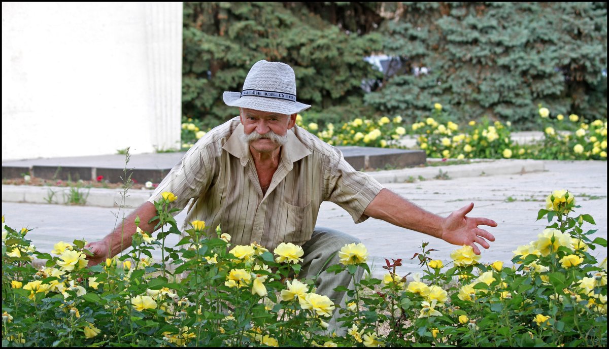
[[146,2],[150,139],[157,150],[180,149],[182,2]]

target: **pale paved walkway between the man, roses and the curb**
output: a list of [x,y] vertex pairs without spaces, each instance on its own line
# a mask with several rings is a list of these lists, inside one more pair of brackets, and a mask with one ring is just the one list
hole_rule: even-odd
[[[469,216],[488,217],[499,224],[498,227],[488,228],[488,231],[495,235],[496,241],[491,243],[490,249],[482,249],[482,262],[502,260],[506,265],[510,265],[512,251],[518,245],[537,239],[537,234],[547,225],[547,220],[536,221],[537,211],[545,208],[546,196],[557,189],[568,189],[574,194],[577,204],[582,206],[576,211],[577,214],[588,213],[594,217],[596,225],[588,225],[585,229],[597,229],[596,233],[590,236],[591,239],[596,236],[607,238],[605,161],[526,160],[530,167],[519,161],[524,160],[445,166],[443,172],[447,172],[451,178],[448,180],[431,179],[438,175],[438,167],[368,173],[379,178],[392,191],[440,216],[448,216],[452,211],[474,202],[474,209]],[[505,163],[512,164],[507,166],[510,169],[502,169],[501,166]],[[466,171],[458,166],[474,166],[475,169],[470,167],[473,170]],[[123,215],[118,208],[110,207],[6,202],[5,196],[8,198],[13,195],[9,194],[10,191],[21,189],[5,187],[9,186],[2,186],[2,214],[6,218],[6,224],[16,229],[33,229],[28,238],[41,252],[49,252],[57,241],[71,242],[83,237],[88,241],[100,239],[113,229],[117,221],[114,214],[119,217]],[[29,189],[24,186],[22,191],[27,190]],[[111,191],[100,190],[105,193]],[[130,205],[137,206],[144,202],[150,193],[132,191],[128,194],[135,198]],[[21,195],[26,197],[26,194]],[[109,196],[99,194],[104,195]],[[127,208],[126,214],[132,209]],[[178,214],[178,224],[181,224],[184,217],[184,212]],[[458,248],[426,234],[398,228],[381,220],[368,219],[361,224],[354,224],[346,211],[329,202],[323,203],[317,224],[339,228],[361,239],[370,252],[370,264],[375,277],[382,277],[385,271],[381,268],[384,265],[383,258],[402,258],[404,265],[398,268],[401,275],[420,270],[417,263],[409,258],[420,252],[423,241],[430,242],[428,248],[438,250],[432,252],[431,257],[442,259],[445,265],[451,260],[449,255],[452,250]],[[169,238],[168,244],[177,241],[175,236]],[[160,256],[160,251],[156,252],[156,255]],[[593,253],[600,260],[607,256],[607,249],[601,247]]]

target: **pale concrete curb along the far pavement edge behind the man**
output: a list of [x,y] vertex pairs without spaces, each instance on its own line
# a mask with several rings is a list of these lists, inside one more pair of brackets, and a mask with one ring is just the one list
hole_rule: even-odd
[[[380,183],[405,183],[415,180],[450,179],[480,177],[488,175],[523,174],[544,171],[542,160],[493,160],[471,164],[434,167],[413,167],[407,169],[367,172]],[[442,175],[443,174],[443,175]],[[442,178],[444,177],[444,178]],[[69,201],[70,188],[57,186],[2,185],[2,202],[60,203]],[[148,200],[152,190],[131,189],[125,202],[121,202],[121,189],[80,188],[86,197],[85,206],[137,207]]]

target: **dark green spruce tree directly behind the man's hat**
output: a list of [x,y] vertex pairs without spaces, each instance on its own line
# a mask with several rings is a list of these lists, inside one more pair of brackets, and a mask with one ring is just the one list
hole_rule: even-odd
[[378,77],[362,59],[381,49],[379,33],[367,32],[371,19],[361,23],[378,17],[374,9],[348,2],[185,2],[183,115],[206,127],[236,116],[222,93],[241,91],[262,59],[294,68],[298,100],[312,111],[361,100],[362,80]]

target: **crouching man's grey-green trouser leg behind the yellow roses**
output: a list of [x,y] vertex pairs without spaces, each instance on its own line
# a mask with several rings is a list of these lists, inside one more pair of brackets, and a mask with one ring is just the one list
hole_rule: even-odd
[[[338,274],[328,273],[325,271],[329,266],[339,264],[338,252],[344,245],[347,244],[359,244],[359,239],[349,234],[342,233],[338,230],[315,227],[311,240],[307,241],[302,245],[305,255],[303,256],[303,263],[301,272],[298,278],[313,278],[317,276],[315,280],[315,286],[317,287],[316,294],[328,296],[334,304],[338,307],[345,308],[345,298],[347,298],[347,292],[336,292],[334,287],[345,286],[348,289],[354,289],[353,276],[349,275],[348,272],[344,271]],[[332,258],[328,261],[328,258]],[[328,263],[326,263],[328,261]],[[361,268],[357,269],[356,280],[359,281],[364,275],[364,270]],[[328,319],[323,319],[328,322],[328,333],[336,331],[338,336],[345,336],[347,334],[346,327],[339,327],[337,322],[339,317],[338,309],[334,311],[333,316]]]

